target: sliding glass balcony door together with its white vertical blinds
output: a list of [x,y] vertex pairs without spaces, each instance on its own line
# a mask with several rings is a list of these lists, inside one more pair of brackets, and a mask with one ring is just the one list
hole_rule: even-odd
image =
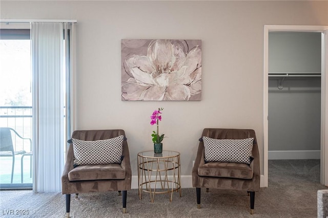
[[61,189],[71,135],[74,28],[0,22],[1,189]]

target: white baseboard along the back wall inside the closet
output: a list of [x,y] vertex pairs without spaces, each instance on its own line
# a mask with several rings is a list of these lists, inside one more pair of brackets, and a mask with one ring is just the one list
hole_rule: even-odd
[[320,150],[269,150],[269,160],[320,159]]

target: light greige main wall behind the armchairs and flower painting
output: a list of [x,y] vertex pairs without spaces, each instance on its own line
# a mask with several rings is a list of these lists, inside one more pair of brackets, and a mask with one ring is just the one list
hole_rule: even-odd
[[[126,130],[133,175],[164,107],[165,149],[192,161],[206,127],[255,129],[263,174],[264,25],[328,25],[327,1],[1,1],[2,19],[77,19],[76,129]],[[121,101],[121,39],[201,39],[202,99]]]

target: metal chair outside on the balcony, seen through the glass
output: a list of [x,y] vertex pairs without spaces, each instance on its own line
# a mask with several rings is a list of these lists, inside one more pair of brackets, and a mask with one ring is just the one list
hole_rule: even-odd
[[11,182],[14,176],[14,166],[15,166],[15,155],[24,155],[25,150],[15,150],[12,143],[12,133],[23,140],[28,140],[30,146],[32,146],[32,140],[29,138],[24,138],[20,136],[15,129],[9,127],[0,127],[0,157],[12,157],[12,167],[11,167]]

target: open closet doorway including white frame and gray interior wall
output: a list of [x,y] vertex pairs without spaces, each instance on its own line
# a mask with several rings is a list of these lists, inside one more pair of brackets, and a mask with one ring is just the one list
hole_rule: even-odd
[[[320,182],[327,185],[328,150],[325,87],[328,87],[325,26],[265,26],[264,175],[268,160],[320,159]],[[327,173],[326,173],[327,174]]]

